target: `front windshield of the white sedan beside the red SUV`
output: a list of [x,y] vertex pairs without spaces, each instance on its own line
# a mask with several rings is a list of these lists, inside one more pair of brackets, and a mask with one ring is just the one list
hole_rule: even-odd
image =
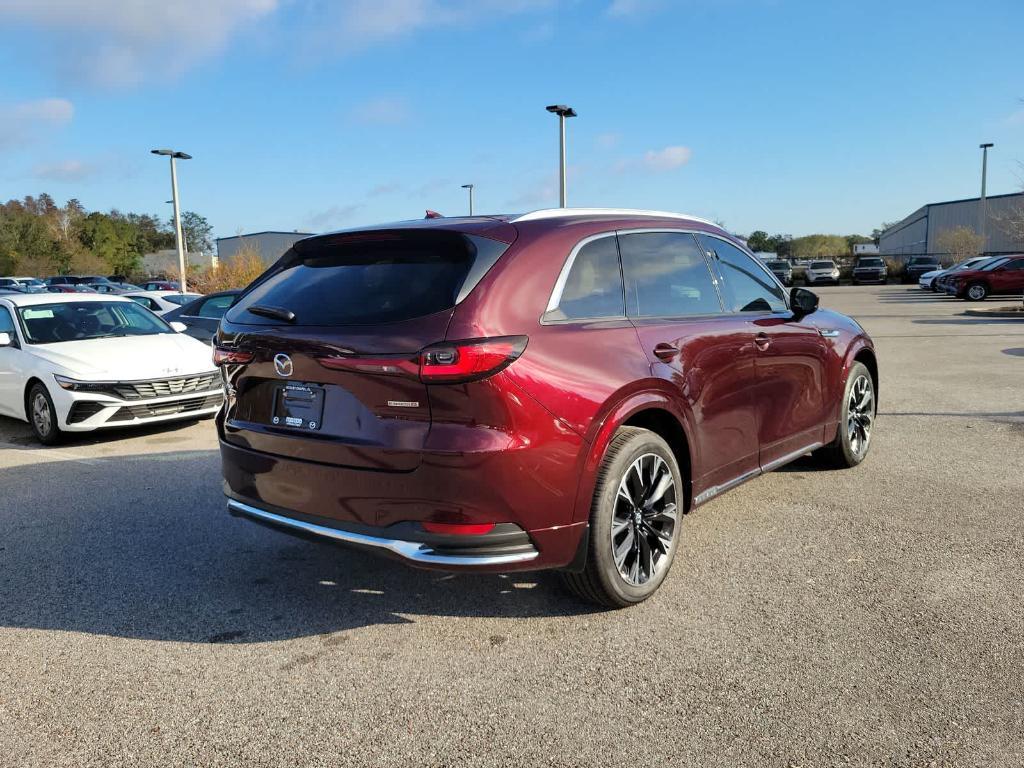
[[18,307],[17,314],[30,344],[174,333],[164,321],[133,301],[33,304]]

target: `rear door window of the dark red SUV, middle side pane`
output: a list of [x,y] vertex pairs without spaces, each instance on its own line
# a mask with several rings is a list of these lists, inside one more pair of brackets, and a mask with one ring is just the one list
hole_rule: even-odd
[[714,278],[692,234],[621,234],[618,246],[631,316],[721,313]]

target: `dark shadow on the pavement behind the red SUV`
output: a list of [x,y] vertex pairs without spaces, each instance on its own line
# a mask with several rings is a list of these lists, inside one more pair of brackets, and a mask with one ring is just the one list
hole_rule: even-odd
[[0,626],[195,643],[594,609],[553,573],[451,574],[228,515],[216,451],[0,469]]

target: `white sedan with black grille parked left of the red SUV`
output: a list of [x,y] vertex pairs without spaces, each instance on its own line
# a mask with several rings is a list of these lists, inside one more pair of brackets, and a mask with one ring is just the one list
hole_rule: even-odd
[[213,416],[220,373],[183,330],[120,296],[0,295],[0,414],[47,445],[62,432]]

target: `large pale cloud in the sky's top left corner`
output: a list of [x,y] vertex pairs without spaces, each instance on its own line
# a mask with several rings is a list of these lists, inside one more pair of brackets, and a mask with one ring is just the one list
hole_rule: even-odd
[[121,86],[178,75],[276,8],[278,0],[4,0],[0,24],[46,33],[46,56],[71,79]]

